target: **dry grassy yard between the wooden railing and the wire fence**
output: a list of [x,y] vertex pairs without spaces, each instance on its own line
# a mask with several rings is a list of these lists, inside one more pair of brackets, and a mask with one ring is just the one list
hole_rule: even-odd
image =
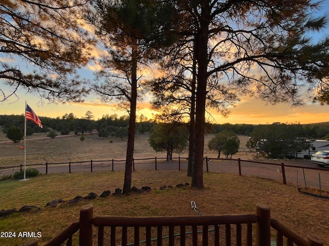
[[[190,182],[184,171],[136,171],[132,185],[149,186],[151,192],[132,193],[129,196],[109,196],[78,204],[62,204],[44,208],[53,199],[69,200],[90,192],[100,195],[105,190],[121,188],[123,172],[80,174],[48,174],[25,182],[6,180],[0,183],[1,209],[21,208],[29,204],[42,210],[36,213],[17,213],[0,219],[2,232],[41,232],[41,245],[60,233],[70,223],[78,221],[80,208],[94,204],[94,214],[121,216],[197,215],[190,202],[194,200],[200,213],[232,214],[254,213],[255,204],[271,208],[271,216],[288,228],[306,237],[317,235],[329,243],[329,200],[314,198],[297,192],[295,186],[257,177],[231,174],[204,174],[204,189],[191,187],[159,190],[166,185]],[[26,239],[0,238],[0,245],[22,245]]]

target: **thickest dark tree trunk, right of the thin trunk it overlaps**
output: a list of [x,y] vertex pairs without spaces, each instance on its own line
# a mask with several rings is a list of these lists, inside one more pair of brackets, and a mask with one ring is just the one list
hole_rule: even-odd
[[200,27],[197,31],[194,52],[197,55],[197,90],[195,108],[195,156],[193,163],[192,187],[203,188],[203,157],[205,145],[205,113],[207,95],[207,65],[208,65],[208,25],[211,7],[207,1],[201,3]]

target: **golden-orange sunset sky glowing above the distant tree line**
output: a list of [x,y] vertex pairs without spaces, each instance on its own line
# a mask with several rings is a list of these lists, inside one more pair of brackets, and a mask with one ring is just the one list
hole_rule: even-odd
[[[326,0],[323,5],[322,13],[329,14],[329,0]],[[329,27],[318,34],[319,37],[329,36]],[[317,38],[313,35],[313,38]],[[96,53],[102,53],[101,50],[96,50]],[[0,59],[3,59],[0,57]],[[12,60],[12,63],[16,61]],[[25,64],[26,65],[26,64]],[[22,65],[24,66],[24,65]],[[81,70],[81,76],[92,78],[95,67],[89,65]],[[0,81],[2,89],[3,83]],[[10,92],[10,88],[5,91]],[[0,104],[1,114],[24,114],[25,100],[27,104],[33,109],[38,116],[57,117],[63,116],[65,113],[74,113],[75,116],[81,118],[86,111],[92,111],[95,116],[94,119],[101,118],[105,114],[127,114],[125,111],[118,110],[115,105],[104,104],[97,99],[96,96],[89,96],[85,98],[84,103],[66,103],[66,104],[49,104],[44,101],[40,104],[40,98],[37,95],[26,94],[24,90],[17,93],[18,97],[10,97],[7,101]],[[0,97],[1,99],[1,97]],[[329,121],[329,106],[321,106],[310,101],[305,101],[302,107],[293,107],[289,104],[267,105],[264,101],[253,97],[241,97],[241,101],[231,108],[231,113],[224,118],[216,111],[209,110],[213,117],[213,123],[216,124],[272,124],[273,122],[300,122],[301,124],[309,124],[315,122]],[[138,104],[137,115],[143,114],[148,118],[152,118],[153,112],[148,100]]]

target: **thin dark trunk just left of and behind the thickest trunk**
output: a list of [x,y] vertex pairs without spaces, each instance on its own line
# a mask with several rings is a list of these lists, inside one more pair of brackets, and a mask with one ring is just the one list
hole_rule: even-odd
[[[195,51],[195,42],[194,42]],[[193,78],[191,84],[191,111],[190,111],[190,136],[189,136],[189,160],[187,167],[187,176],[193,175],[193,155],[195,153],[195,87],[196,87],[196,59],[193,52]]]

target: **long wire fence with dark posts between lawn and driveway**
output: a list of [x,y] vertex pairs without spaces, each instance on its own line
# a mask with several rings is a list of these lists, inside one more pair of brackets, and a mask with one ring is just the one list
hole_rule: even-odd
[[[26,165],[36,168],[41,173],[81,173],[102,171],[124,171],[125,160],[88,160],[68,161],[58,163],[40,163]],[[166,157],[141,158],[133,160],[133,170],[187,170],[187,157],[173,157],[167,161]],[[23,166],[0,167],[0,177],[20,171]],[[270,163],[244,159],[204,158],[204,171],[216,173],[233,173],[243,176],[257,176],[278,180],[297,187],[308,187],[329,191],[329,169],[292,166],[282,163]]]

